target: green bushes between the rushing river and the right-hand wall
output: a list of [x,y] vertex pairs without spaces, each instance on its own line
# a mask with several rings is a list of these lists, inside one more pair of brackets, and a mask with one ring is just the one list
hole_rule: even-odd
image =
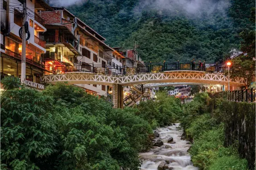
[[[246,159],[239,158],[237,145],[224,147],[223,117],[211,118],[206,93],[200,93],[183,108],[181,125],[193,145],[189,153],[194,166],[201,170],[248,170]],[[216,111],[219,112],[219,111]],[[219,119],[217,119],[219,118]]]

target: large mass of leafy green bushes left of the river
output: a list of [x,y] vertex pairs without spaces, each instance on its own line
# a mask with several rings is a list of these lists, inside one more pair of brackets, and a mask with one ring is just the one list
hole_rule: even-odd
[[122,110],[66,83],[39,92],[17,82],[2,81],[8,89],[1,94],[3,170],[138,170],[138,152],[151,146],[153,128],[182,111],[165,94]]

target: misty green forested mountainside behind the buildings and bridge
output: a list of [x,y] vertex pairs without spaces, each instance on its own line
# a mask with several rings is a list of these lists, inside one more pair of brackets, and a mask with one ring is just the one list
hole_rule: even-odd
[[133,48],[145,61],[220,61],[239,47],[255,0],[86,0],[68,8],[111,47]]

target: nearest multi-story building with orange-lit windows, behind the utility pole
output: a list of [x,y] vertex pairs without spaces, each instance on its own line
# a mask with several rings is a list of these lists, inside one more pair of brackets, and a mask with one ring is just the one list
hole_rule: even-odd
[[[1,0],[1,78],[5,75],[21,77],[22,40],[19,30],[23,24],[23,0]],[[42,64],[45,41],[39,35],[46,31],[40,13],[53,9],[44,0],[27,0],[29,40],[26,41],[26,79],[40,83],[43,72],[51,72]]]

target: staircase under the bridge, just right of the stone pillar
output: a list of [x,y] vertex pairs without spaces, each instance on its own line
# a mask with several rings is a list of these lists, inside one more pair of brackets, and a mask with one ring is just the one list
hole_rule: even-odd
[[150,97],[149,94],[149,88],[143,88],[143,85],[133,85],[132,86],[132,90],[133,92],[128,95],[126,98],[124,98],[124,107],[128,106],[131,107],[134,104],[136,104],[138,101],[140,101],[140,99],[144,98],[144,97]]

